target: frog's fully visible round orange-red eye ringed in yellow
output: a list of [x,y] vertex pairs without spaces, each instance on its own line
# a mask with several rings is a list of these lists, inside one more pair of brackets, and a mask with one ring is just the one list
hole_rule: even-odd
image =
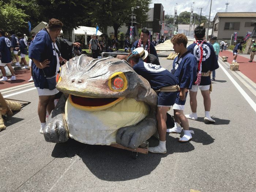
[[116,72],[110,76],[108,86],[112,91],[124,91],[127,89],[127,79],[123,72]]

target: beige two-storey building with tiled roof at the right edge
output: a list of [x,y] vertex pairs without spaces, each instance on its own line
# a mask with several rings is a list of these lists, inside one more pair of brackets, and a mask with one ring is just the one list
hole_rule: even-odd
[[[256,20],[256,12],[218,12],[214,17],[212,34],[228,44],[233,44],[234,32],[237,32],[237,42],[242,41],[246,34],[254,29],[253,21]],[[231,40],[232,36],[232,40]]]

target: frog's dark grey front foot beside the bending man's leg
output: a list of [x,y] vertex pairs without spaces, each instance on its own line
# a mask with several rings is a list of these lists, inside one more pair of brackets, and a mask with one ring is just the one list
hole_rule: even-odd
[[157,120],[146,117],[134,126],[118,129],[116,142],[124,147],[135,149],[157,131]]

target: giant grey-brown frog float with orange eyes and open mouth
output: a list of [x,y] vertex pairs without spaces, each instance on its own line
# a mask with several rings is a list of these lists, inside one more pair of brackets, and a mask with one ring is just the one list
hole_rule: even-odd
[[64,94],[44,128],[47,142],[135,149],[157,131],[157,94],[124,60],[74,57],[61,67],[56,88]]

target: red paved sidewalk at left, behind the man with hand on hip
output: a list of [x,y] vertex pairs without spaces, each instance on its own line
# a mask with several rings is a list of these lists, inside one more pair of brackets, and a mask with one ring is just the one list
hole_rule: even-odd
[[[22,84],[26,84],[26,83],[31,83],[31,82],[28,82],[28,80],[31,77],[31,73],[30,73],[29,69],[15,68],[14,70],[15,70],[16,80],[15,81],[0,81],[0,90],[18,86],[18,85],[22,85]],[[11,78],[11,77],[7,77],[7,78]]]

